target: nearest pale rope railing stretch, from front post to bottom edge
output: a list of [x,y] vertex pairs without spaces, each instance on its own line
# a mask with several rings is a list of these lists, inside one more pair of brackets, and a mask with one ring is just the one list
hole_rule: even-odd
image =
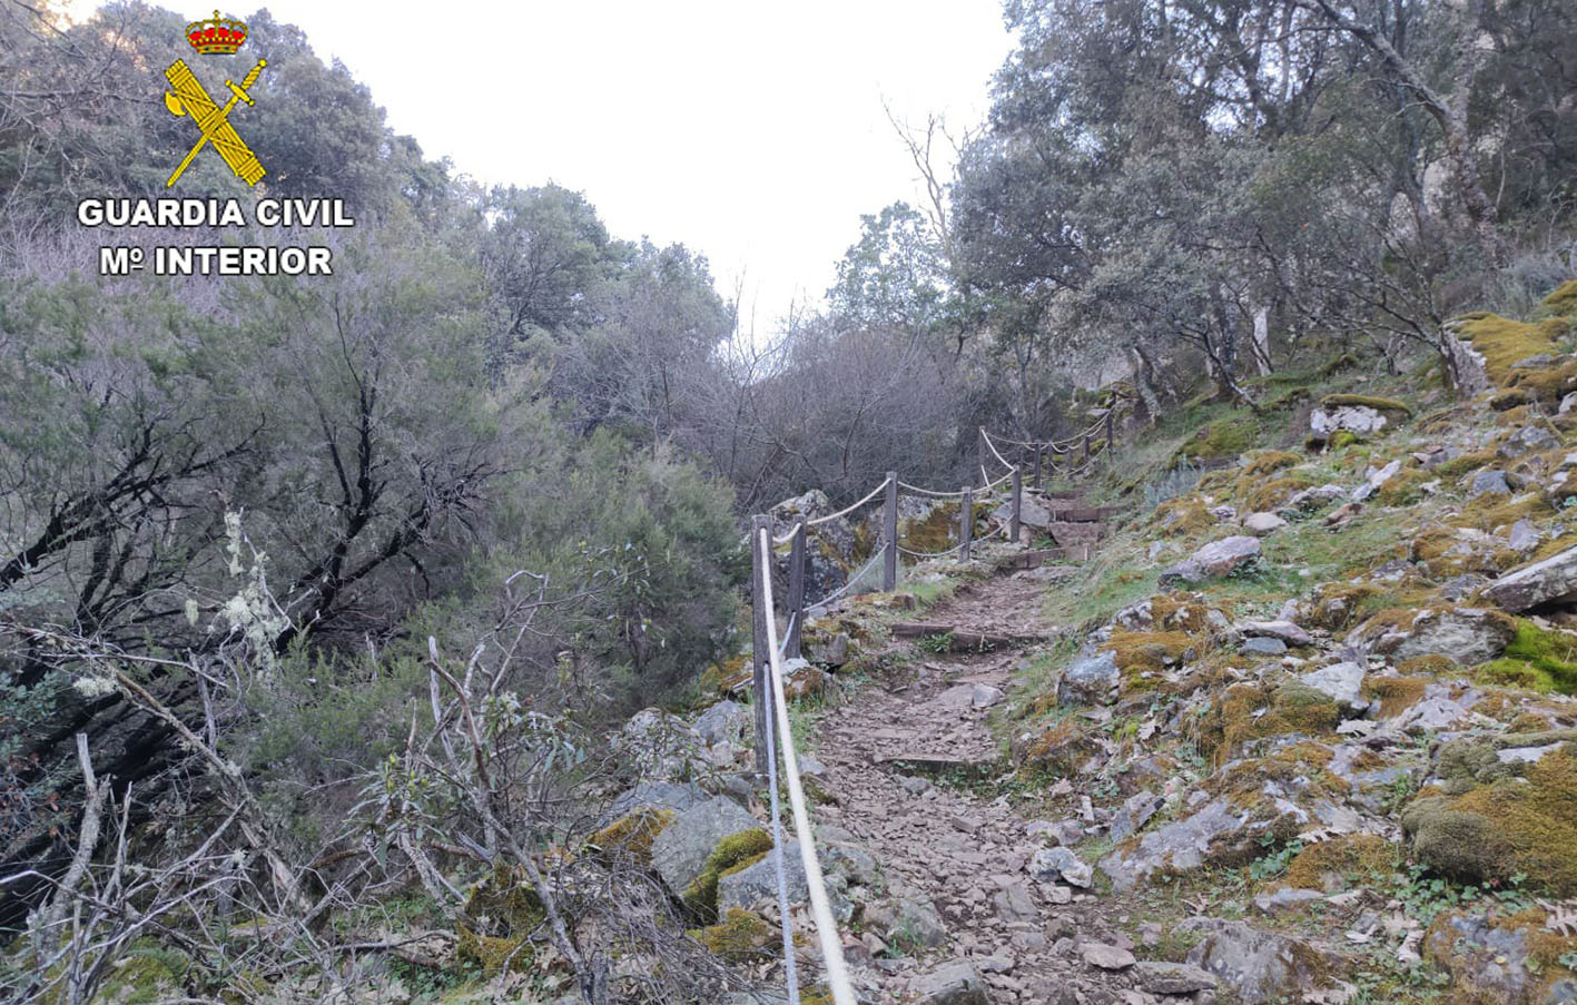
[[[757,588],[762,593],[762,601],[770,612],[773,609],[773,577],[771,577],[771,532],[762,525],[755,535],[755,559],[757,559]],[[837,931],[837,921],[833,918],[833,909],[826,898],[826,880],[822,876],[822,860],[815,854],[815,833],[811,830],[811,816],[806,811],[804,789],[800,784],[800,759],[795,754],[793,745],[793,726],[788,721],[788,699],[784,694],[784,667],[782,658],[777,655],[777,625],[768,617],[766,618],[766,652],[770,655],[770,667],[766,667],[768,683],[771,685],[771,710],[765,716],[771,721],[771,729],[774,732],[771,749],[768,751],[768,759],[776,760],[782,756],[784,764],[784,783],[788,789],[788,808],[793,813],[793,828],[795,836],[800,841],[800,863],[804,866],[806,888],[811,895],[811,917],[815,920],[817,940],[822,943],[822,966],[826,972],[826,988],[833,992],[834,1005],[858,1005],[855,1000],[853,986],[848,983],[848,967],[844,962],[844,939]],[[760,658],[755,658],[760,667]],[[765,697],[765,694],[762,694]],[[776,767],[770,770],[770,775],[776,773]],[[776,786],[773,787],[776,794]],[[779,872],[779,890],[782,890],[781,904],[787,904],[787,879],[784,877],[782,866],[782,847],[774,842],[777,872]],[[787,910],[785,910],[787,913]],[[793,967],[793,939],[785,932],[784,936],[784,953],[787,956],[784,962],[785,972]],[[790,984],[793,988],[793,984]],[[790,991],[790,1000],[798,997],[798,991]]]

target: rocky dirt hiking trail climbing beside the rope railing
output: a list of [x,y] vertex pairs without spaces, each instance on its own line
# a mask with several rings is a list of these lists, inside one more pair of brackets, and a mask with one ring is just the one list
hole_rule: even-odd
[[[1050,639],[1044,592],[1044,576],[998,571],[960,587],[924,620],[951,626],[954,637]],[[878,921],[908,945],[866,934],[850,947],[880,973],[878,1000],[1153,1002],[1135,988],[1213,988],[1214,978],[1194,967],[1135,962],[1142,947],[1121,928],[1128,902],[1090,891],[1091,866],[1044,838],[1053,825],[987,792],[1012,773],[987,716],[1027,650],[935,652],[948,650],[945,641],[894,639],[894,648],[913,650],[908,674],[856,689],[811,743],[830,800],[817,813],[822,830],[844,831],[880,861],[893,910],[907,912]],[[1052,795],[1074,789],[1063,781]]]

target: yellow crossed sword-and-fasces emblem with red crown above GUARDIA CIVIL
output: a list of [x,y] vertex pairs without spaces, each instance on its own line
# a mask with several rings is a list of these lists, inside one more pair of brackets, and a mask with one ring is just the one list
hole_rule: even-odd
[[[211,19],[194,21],[186,25],[186,41],[191,43],[191,47],[199,55],[235,55],[246,44],[246,24],[233,17],[221,17],[219,11],[214,11]],[[164,77],[170,82],[170,90],[164,92],[164,107],[170,110],[170,115],[191,117],[192,125],[197,126],[199,137],[186,155],[186,159],[170,174],[170,180],[164,183],[164,188],[172,188],[180,181],[203,147],[213,147],[224,158],[230,170],[235,172],[235,177],[248,185],[257,185],[267,174],[257,155],[252,153],[246,140],[230,125],[230,112],[235,110],[238,103],[255,104],[249,92],[257,84],[257,77],[263,74],[267,65],[267,60],[257,60],[257,65],[252,66],[251,73],[240,84],[226,80],[224,85],[230,88],[230,99],[224,103],[224,107],[219,107],[208,96],[202,80],[197,79],[185,60],[170,63],[170,68],[164,71]]]

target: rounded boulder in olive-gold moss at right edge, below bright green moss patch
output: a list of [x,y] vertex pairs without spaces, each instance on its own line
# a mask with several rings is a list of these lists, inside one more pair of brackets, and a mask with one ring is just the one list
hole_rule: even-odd
[[1413,852],[1465,882],[1528,877],[1534,888],[1577,893],[1577,757],[1571,745],[1463,795],[1426,795],[1402,814]]

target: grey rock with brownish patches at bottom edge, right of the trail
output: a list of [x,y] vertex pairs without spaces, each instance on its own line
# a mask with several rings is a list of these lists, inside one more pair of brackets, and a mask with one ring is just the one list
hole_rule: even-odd
[[1202,937],[1187,962],[1219,978],[1243,1005],[1299,1000],[1326,978],[1329,967],[1309,945],[1244,921],[1186,918],[1173,931]]

